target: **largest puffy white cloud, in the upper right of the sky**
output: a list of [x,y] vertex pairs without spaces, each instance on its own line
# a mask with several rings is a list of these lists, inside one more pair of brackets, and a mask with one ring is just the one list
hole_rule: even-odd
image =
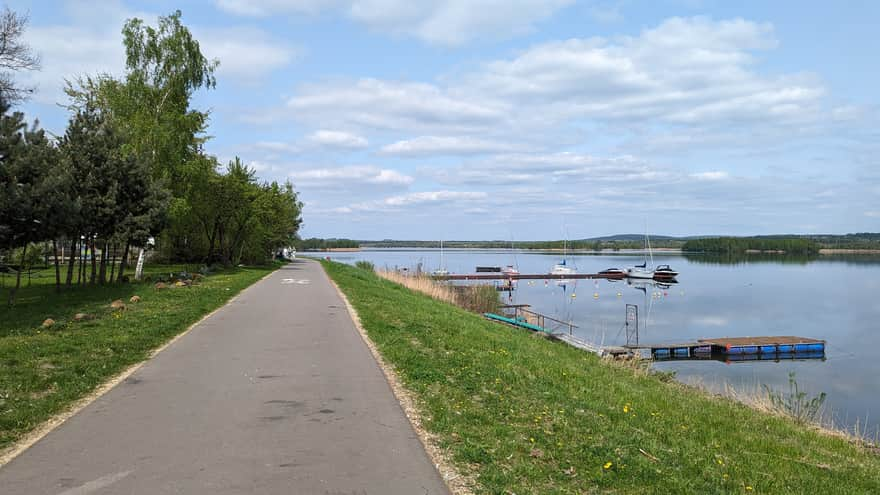
[[467,82],[562,118],[705,124],[810,116],[821,85],[752,69],[751,52],[776,45],[772,32],[742,19],[672,18],[637,37],[537,45],[489,63]]

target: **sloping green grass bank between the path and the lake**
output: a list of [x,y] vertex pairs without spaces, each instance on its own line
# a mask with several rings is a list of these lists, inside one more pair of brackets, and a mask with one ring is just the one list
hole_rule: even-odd
[[880,493],[870,447],[323,264],[478,493]]

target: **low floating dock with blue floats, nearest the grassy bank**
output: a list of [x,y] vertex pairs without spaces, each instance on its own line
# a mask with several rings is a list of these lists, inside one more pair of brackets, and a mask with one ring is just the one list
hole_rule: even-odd
[[[690,358],[723,354],[727,356],[824,355],[825,341],[807,337],[782,335],[775,337],[724,337],[699,339],[683,344],[652,344],[630,346],[651,352],[655,359]],[[772,358],[770,358],[772,359]]]

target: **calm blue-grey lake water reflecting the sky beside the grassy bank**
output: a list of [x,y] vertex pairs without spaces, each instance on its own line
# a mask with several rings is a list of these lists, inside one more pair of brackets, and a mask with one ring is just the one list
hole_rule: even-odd
[[[331,253],[341,262],[370,261],[377,268],[430,271],[439,250],[389,249]],[[521,273],[547,273],[559,254],[514,250],[444,251],[451,273],[474,273],[478,265],[515,264]],[[570,255],[580,273],[641,263],[641,254]],[[818,258],[803,262],[756,261],[736,264],[706,258],[655,255],[656,263],[678,270],[669,287],[626,281],[521,280],[502,297],[530,304],[534,311],[571,321],[575,334],[606,345],[625,343],[626,304],[638,305],[639,337],[645,343],[680,343],[699,338],[796,335],[827,341],[824,359],[725,363],[658,362],[678,379],[714,390],[729,385],[761,393],[762,385],[787,390],[789,373],[808,394],[827,394],[827,413],[840,427],[858,425],[869,435],[880,429],[880,260]]]

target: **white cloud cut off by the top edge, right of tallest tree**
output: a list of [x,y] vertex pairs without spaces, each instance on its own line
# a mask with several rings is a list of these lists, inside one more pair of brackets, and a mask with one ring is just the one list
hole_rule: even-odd
[[412,36],[426,43],[460,45],[475,38],[507,38],[574,0],[217,0],[245,16],[344,12],[371,29]]

